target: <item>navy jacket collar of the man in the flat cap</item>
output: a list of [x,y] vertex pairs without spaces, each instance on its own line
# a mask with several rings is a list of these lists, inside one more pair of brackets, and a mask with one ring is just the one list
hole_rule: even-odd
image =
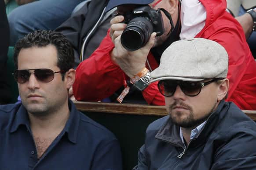
[[[207,140],[208,136],[211,134],[217,122],[225,116],[225,114],[221,113],[226,112],[227,108],[224,108],[224,106],[226,105],[227,103],[225,101],[221,101],[219,103],[219,106],[216,108],[216,110],[214,110],[206,120],[206,124],[201,132],[195,137],[195,141],[198,139],[198,141],[201,141],[201,143],[203,143],[203,141]],[[164,142],[171,143],[172,145],[183,147],[183,143],[179,136],[179,129],[180,127],[174,124],[169,118],[160,127],[155,138]]]

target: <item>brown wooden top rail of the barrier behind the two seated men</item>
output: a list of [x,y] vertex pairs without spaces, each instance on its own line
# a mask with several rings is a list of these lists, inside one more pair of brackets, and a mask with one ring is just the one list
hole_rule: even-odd
[[[102,103],[102,102],[74,102],[80,111],[100,112],[100,113],[118,113],[135,115],[154,115],[165,116],[167,112],[165,106],[148,106],[142,104],[126,103]],[[256,110],[242,110],[245,114],[256,120]]]

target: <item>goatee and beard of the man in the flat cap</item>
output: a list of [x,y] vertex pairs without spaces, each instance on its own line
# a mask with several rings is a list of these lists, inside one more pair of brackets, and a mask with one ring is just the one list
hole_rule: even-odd
[[[181,117],[184,115],[184,113],[181,112],[176,112],[175,115],[172,113],[172,108],[176,105],[179,106],[183,106],[186,109],[189,110],[189,113],[187,114],[187,117],[182,119]],[[180,101],[176,101],[175,103],[173,103],[172,105],[169,106],[169,115],[170,115],[170,119],[172,120],[172,122],[174,124],[176,124],[177,126],[180,127],[184,127],[184,128],[194,128],[197,127],[199,124],[203,123],[205,120],[207,120],[207,118],[209,117],[209,115],[212,113],[212,111],[214,110],[216,105],[214,105],[212,107],[211,112],[209,112],[208,114],[205,114],[203,117],[200,117],[198,119],[194,118],[194,112],[192,110],[192,108],[188,105],[186,105],[183,102]]]

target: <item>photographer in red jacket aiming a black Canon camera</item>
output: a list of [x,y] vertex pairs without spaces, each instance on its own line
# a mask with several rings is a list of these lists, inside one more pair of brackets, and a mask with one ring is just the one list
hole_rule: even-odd
[[[157,82],[149,84],[150,72],[158,67],[161,54],[171,43],[201,37],[216,41],[227,50],[230,80],[227,101],[233,101],[241,109],[256,110],[256,62],[241,25],[226,11],[226,0],[110,0],[106,11],[113,7],[117,7],[117,16],[111,19],[108,34],[91,57],[76,69],[73,94],[77,100],[99,101],[109,97],[121,102],[139,96],[144,103],[165,105]],[[145,11],[152,12],[153,20],[145,20],[145,16],[149,18]],[[134,16],[144,20],[132,22]],[[151,37],[139,49],[125,47],[122,37],[128,25],[133,23],[139,30],[150,21],[151,26],[162,23],[162,29],[147,32]],[[145,32],[140,33],[141,39]],[[139,43],[132,34],[128,39],[132,46]]]

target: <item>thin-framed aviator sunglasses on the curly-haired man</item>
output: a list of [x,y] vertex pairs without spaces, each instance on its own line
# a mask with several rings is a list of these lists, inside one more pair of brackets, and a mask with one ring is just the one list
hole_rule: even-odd
[[[33,71],[30,71],[33,70]],[[28,69],[28,70],[15,70],[13,75],[15,81],[17,81],[20,84],[26,83],[26,81],[29,81],[29,77],[31,73],[35,74],[35,77],[38,81],[48,83],[53,80],[55,73],[63,73],[63,71],[52,71],[48,68],[38,68],[38,69]]]

